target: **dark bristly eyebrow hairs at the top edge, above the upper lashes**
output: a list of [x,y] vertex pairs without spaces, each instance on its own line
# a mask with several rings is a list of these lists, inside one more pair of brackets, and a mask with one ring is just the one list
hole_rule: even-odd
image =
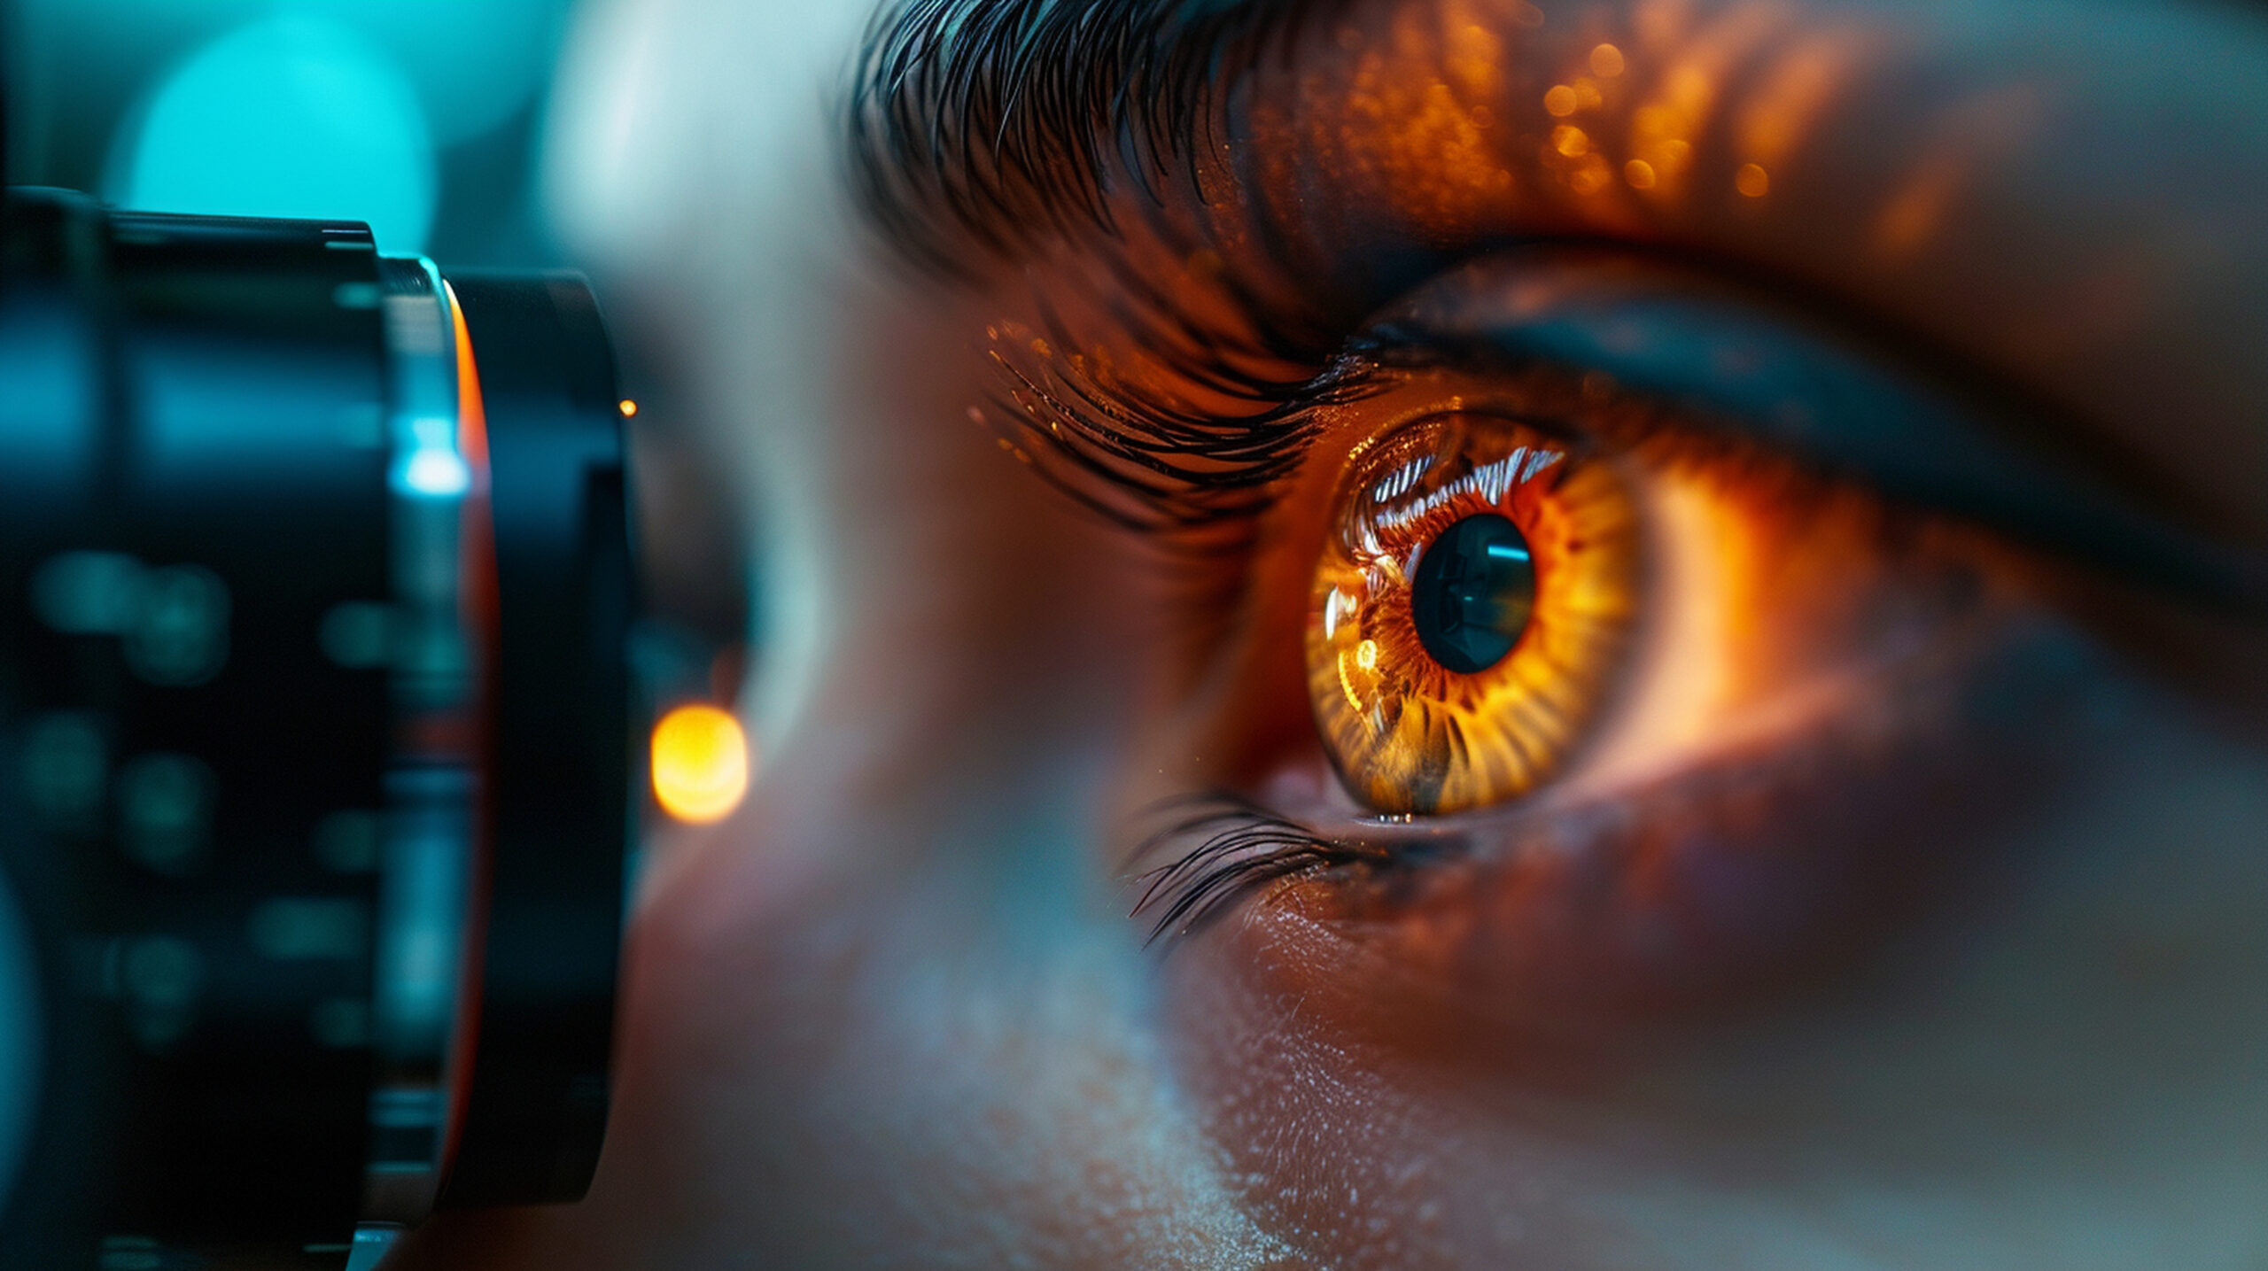
[[1222,95],[1336,0],[900,0],[866,34],[850,184],[914,263],[966,274],[1111,231],[1116,177],[1193,163]]

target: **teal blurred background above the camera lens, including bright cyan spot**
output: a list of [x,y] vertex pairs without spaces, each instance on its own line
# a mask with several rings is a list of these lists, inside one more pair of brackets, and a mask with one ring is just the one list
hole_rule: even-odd
[[367,220],[553,265],[538,143],[572,0],[5,0],[7,181]]

